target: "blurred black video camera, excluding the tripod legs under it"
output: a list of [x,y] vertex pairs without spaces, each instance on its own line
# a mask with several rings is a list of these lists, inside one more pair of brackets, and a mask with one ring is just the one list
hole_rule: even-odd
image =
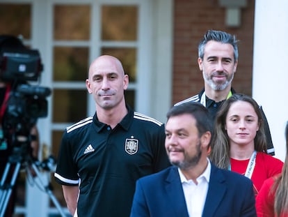
[[[30,140],[30,130],[38,118],[47,117],[47,96],[51,90],[29,84],[43,70],[38,50],[29,50],[14,36],[0,36],[0,80],[10,84],[2,117],[3,137],[8,145],[20,146]],[[7,85],[6,85],[7,86]]]

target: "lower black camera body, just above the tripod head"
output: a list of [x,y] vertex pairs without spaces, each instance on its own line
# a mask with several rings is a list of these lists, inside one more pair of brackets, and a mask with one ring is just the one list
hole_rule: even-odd
[[[6,112],[2,120],[3,135],[13,146],[29,142],[30,130],[38,118],[47,117],[50,89],[21,84],[10,92]],[[20,138],[26,138],[21,140]]]

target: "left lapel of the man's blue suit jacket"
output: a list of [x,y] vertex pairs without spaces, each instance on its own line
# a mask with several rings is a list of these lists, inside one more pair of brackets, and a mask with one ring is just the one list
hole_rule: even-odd
[[189,217],[177,167],[170,167],[170,172],[166,178],[165,188],[168,195],[168,201],[170,202],[169,206],[172,206],[175,211],[175,215],[171,216]]

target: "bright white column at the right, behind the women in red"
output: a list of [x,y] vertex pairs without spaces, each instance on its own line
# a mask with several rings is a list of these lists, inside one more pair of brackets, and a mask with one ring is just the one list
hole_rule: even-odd
[[255,0],[253,97],[269,121],[275,156],[285,160],[288,121],[288,1]]

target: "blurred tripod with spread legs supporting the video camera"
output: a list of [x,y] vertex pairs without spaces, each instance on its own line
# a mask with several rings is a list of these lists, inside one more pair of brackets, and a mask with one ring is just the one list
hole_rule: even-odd
[[[38,177],[40,180],[40,184],[42,188],[45,189],[47,195],[49,195],[52,202],[54,202],[55,207],[58,209],[59,213],[62,217],[65,217],[65,214],[61,208],[61,205],[56,200],[56,197],[51,191],[49,184],[45,186],[42,179],[40,179],[40,171],[38,170],[39,163],[36,164],[35,160],[32,160],[30,155],[26,154],[26,149],[22,146],[13,147],[12,155],[8,158],[8,163],[6,164],[5,170],[3,172],[3,176],[0,182],[0,217],[3,217],[6,211],[6,207],[8,205],[10,195],[15,186],[15,182],[17,180],[19,170],[24,165],[24,167],[28,167],[28,170],[33,169],[35,172],[35,177]],[[30,167],[29,167],[30,166]],[[12,173],[10,177],[9,174]],[[35,178],[34,177],[34,178]]]

